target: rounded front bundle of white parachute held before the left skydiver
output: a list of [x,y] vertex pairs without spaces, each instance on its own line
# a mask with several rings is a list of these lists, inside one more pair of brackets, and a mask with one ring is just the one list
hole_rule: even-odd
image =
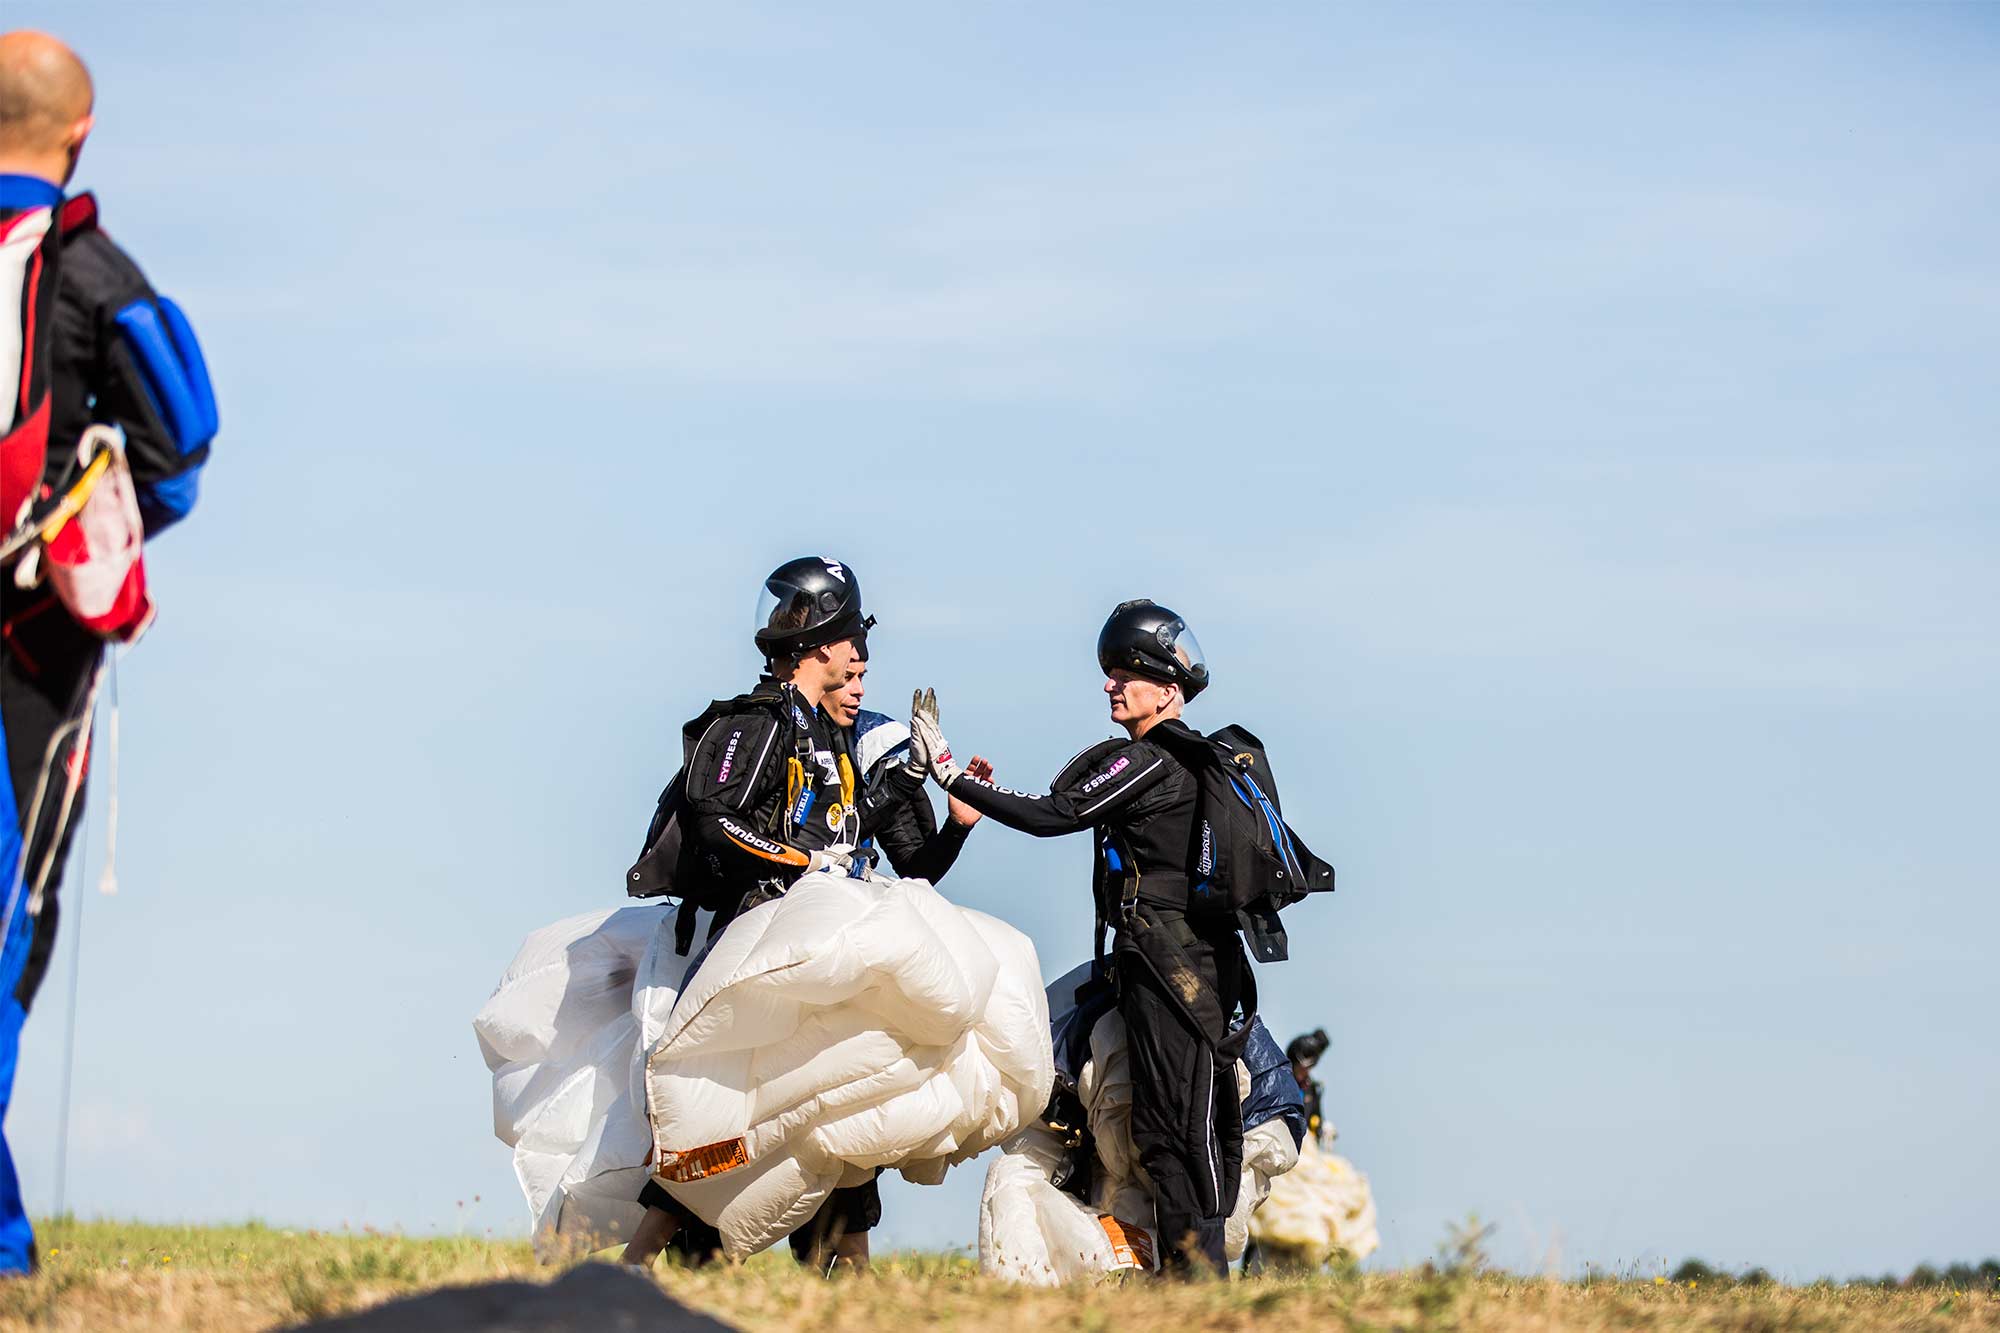
[[730,923],[646,1061],[658,1173],[732,1257],[878,1167],[942,1181],[1052,1085],[1026,935],[924,881],[824,873]]

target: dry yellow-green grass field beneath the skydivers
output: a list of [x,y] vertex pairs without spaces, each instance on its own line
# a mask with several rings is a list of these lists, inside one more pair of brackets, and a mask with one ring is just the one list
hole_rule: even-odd
[[[0,1285],[0,1329],[272,1329],[398,1295],[494,1277],[548,1279],[526,1243],[328,1235],[270,1227],[44,1223],[42,1275]],[[1994,1329],[2000,1295],[1944,1287],[1780,1287],[1664,1279],[1540,1281],[1430,1269],[1260,1277],[1228,1285],[1026,1291],[982,1281],[964,1257],[904,1255],[852,1281],[800,1275],[788,1257],[742,1269],[662,1271],[684,1303],[744,1329],[880,1333],[972,1329]]]

